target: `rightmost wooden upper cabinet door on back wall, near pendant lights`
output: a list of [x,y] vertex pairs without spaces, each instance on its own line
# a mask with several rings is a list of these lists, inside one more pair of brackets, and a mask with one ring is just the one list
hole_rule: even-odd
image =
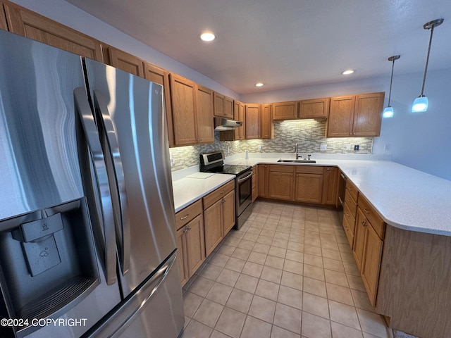
[[383,92],[356,96],[353,136],[371,137],[381,134],[384,96]]

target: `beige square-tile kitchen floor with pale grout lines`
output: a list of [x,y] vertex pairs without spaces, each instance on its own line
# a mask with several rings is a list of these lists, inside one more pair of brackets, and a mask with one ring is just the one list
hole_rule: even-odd
[[257,201],[183,292],[183,338],[393,337],[326,208]]

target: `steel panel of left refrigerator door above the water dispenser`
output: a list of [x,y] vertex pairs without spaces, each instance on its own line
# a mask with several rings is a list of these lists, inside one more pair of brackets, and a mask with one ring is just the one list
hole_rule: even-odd
[[85,80],[80,56],[10,32],[0,42],[3,220],[84,196],[73,89]]

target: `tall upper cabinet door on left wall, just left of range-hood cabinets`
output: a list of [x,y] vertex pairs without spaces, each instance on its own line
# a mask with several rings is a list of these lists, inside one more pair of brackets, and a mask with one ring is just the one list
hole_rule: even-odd
[[197,142],[214,142],[213,91],[196,84]]

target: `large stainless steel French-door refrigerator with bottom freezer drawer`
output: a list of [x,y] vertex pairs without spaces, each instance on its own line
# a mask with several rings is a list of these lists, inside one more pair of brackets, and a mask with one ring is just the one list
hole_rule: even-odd
[[0,31],[1,337],[178,337],[163,87]]

